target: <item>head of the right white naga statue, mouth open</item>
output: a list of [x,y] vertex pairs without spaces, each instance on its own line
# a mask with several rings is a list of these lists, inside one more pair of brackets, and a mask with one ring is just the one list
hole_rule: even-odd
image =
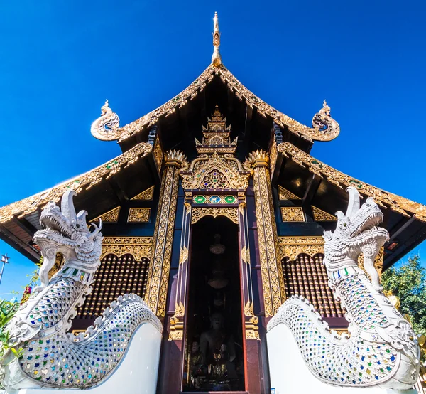
[[363,253],[364,268],[371,276],[373,287],[380,289],[374,259],[389,239],[386,229],[378,227],[383,222],[383,213],[373,198],[368,197],[360,208],[359,193],[354,187],[346,188],[349,204],[346,215],[339,211],[334,233],[324,231],[324,264],[327,272],[336,272],[344,266],[358,265]]

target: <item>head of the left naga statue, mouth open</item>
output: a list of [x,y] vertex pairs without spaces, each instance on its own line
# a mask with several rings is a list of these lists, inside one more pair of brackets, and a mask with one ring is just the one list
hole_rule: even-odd
[[75,195],[75,191],[66,191],[60,208],[50,202],[41,212],[40,225],[43,230],[35,232],[33,240],[43,256],[39,274],[42,287],[49,282],[48,274],[58,252],[65,257],[68,267],[94,272],[99,265],[102,220],[99,220],[99,228],[92,223],[94,231],[91,233],[86,222],[87,211],[75,213],[72,201]]

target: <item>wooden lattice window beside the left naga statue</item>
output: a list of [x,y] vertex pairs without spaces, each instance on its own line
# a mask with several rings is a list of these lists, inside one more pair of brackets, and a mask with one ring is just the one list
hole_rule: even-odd
[[135,260],[133,255],[106,255],[94,274],[93,291],[77,310],[77,319],[99,316],[117,297],[126,293],[143,297],[148,279],[149,260]]

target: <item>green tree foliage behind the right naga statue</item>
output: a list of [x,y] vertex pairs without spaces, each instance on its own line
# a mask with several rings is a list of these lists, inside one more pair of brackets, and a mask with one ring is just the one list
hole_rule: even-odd
[[383,289],[399,297],[400,312],[410,316],[415,333],[426,335],[426,268],[420,264],[420,255],[389,268],[381,279]]

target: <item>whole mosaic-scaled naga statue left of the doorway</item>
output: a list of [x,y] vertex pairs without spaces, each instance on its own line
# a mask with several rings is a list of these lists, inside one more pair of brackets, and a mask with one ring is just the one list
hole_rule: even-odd
[[[19,358],[9,348],[1,359],[1,383],[8,390],[92,387],[116,370],[141,324],[151,323],[162,331],[145,302],[125,294],[87,331],[78,336],[67,334],[75,308],[92,290],[102,252],[102,222],[99,228],[92,223],[94,231],[90,232],[87,212],[75,213],[74,196],[75,191],[67,191],[61,208],[50,202],[40,215],[43,230],[33,239],[43,256],[41,286],[6,326],[13,348],[21,349]],[[63,265],[48,279],[57,253],[63,256]]]

